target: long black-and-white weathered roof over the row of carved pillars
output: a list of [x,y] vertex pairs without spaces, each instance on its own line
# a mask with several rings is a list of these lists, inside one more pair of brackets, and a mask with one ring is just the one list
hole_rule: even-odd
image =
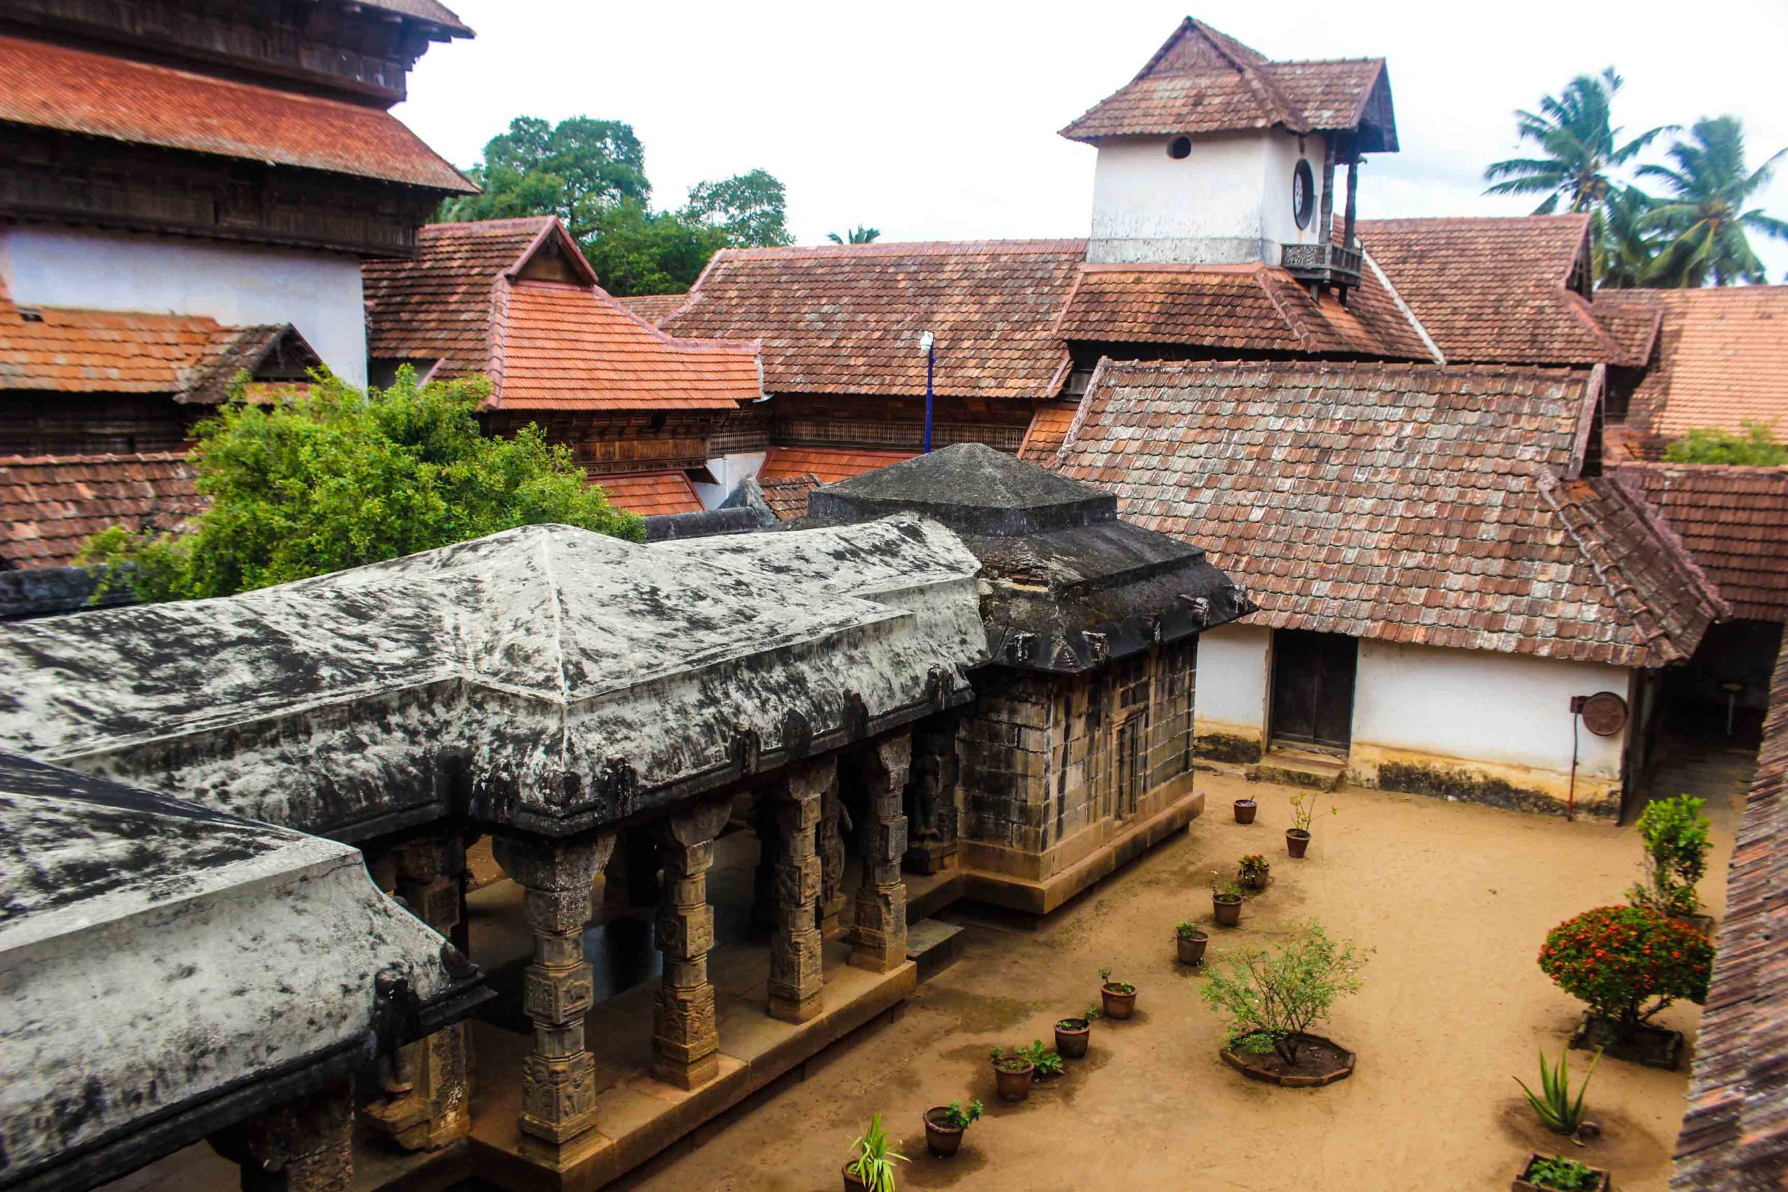
[[[881,567],[953,574],[973,608],[976,563],[948,531],[878,543]],[[463,811],[569,833],[967,697],[980,651],[833,570],[842,588],[769,583],[535,525],[0,625],[0,743],[340,840]]]

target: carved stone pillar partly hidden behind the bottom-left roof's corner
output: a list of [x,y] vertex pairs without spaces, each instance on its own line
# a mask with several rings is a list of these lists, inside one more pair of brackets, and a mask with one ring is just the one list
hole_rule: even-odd
[[[465,842],[458,835],[406,840],[390,856],[397,895],[451,942],[465,904]],[[372,1133],[406,1151],[438,1151],[472,1129],[463,1022],[399,1047],[383,1067],[384,1095],[361,1110]]]

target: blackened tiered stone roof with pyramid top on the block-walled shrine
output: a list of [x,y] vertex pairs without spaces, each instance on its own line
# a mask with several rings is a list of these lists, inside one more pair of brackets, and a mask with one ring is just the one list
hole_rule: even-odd
[[982,563],[992,661],[1080,672],[1255,609],[1202,547],[1119,520],[1118,499],[980,443],[815,488],[805,525],[933,516]]

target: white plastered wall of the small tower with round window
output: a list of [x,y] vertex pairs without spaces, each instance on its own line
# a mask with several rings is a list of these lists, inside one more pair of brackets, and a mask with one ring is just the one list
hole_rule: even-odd
[[[1169,141],[1100,145],[1089,261],[1278,264],[1278,245],[1320,236],[1321,136],[1284,129],[1198,136],[1184,159],[1168,155]],[[1318,191],[1307,229],[1298,229],[1291,207],[1300,143]]]

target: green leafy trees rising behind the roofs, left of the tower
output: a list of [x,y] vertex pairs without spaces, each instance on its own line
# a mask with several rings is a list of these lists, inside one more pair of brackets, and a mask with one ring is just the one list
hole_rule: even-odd
[[765,170],[697,182],[679,211],[653,211],[633,125],[517,116],[470,170],[483,195],[452,198],[442,220],[556,214],[613,295],[688,290],[726,247],[794,243],[789,195]]

